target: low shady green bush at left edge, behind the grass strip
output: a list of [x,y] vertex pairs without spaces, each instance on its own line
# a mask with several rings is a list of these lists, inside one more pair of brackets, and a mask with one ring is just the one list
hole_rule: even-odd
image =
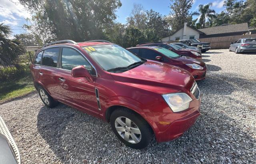
[[30,67],[28,64],[23,64],[16,67],[2,67],[0,68],[0,82],[13,81],[29,76]]

